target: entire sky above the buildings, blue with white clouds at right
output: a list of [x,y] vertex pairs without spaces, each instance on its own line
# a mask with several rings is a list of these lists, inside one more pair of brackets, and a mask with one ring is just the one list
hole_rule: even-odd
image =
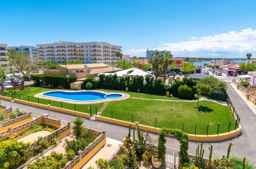
[[123,54],[256,55],[256,1],[1,1],[0,43],[107,41]]

